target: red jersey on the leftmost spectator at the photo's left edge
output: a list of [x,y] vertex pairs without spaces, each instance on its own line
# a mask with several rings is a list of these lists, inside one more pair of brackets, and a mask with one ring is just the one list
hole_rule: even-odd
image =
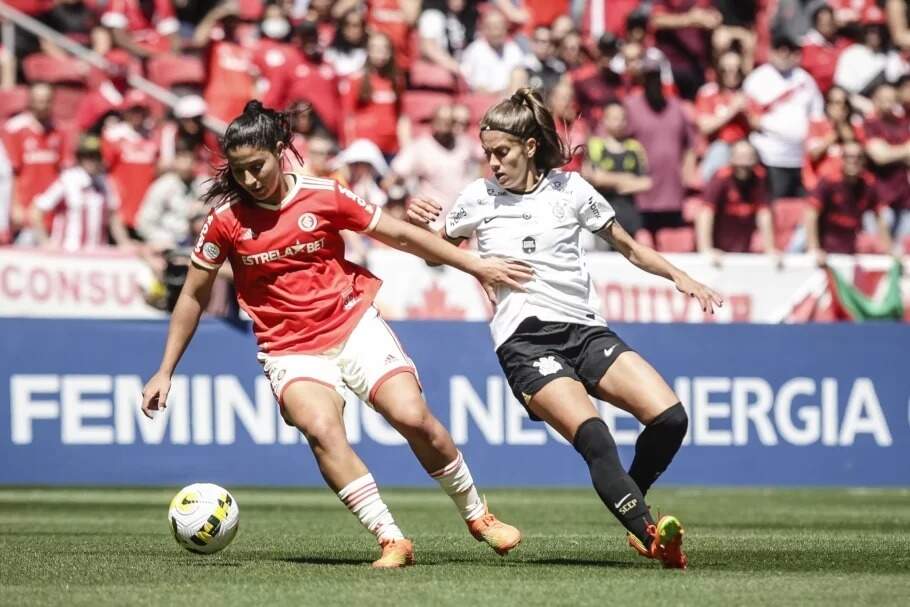
[[7,120],[3,130],[6,155],[16,176],[16,200],[27,209],[57,179],[63,137],[45,129],[29,112]]

